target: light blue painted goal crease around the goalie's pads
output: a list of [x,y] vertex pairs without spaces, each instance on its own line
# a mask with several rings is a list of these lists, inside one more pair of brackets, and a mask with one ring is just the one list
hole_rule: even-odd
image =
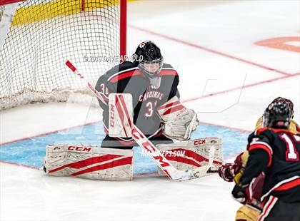
[[[95,145],[100,146],[105,134],[101,123],[84,125],[79,128],[41,135],[15,143],[1,145],[0,160],[28,165],[40,168],[45,156],[46,145],[69,144],[69,145]],[[224,158],[241,153],[246,148],[246,140],[249,133],[231,128],[223,128],[217,125],[201,124],[194,131],[191,139],[218,137],[223,141]],[[140,147],[134,147],[134,174],[155,173],[156,163],[149,157],[141,154]]]

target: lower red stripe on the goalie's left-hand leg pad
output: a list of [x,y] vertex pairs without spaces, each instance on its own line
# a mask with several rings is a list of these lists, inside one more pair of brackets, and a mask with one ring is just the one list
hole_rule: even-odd
[[114,160],[114,161],[111,161],[109,163],[96,165],[94,167],[87,168],[85,170],[81,170],[81,171],[78,171],[76,173],[72,173],[71,175],[72,176],[82,175],[84,173],[91,173],[91,172],[95,172],[95,171],[98,171],[98,170],[106,170],[106,169],[109,169],[109,168],[116,168],[116,167],[121,166],[121,165],[127,165],[127,164],[131,165],[131,163],[132,163],[132,157],[128,157],[128,158],[123,158],[123,159],[119,159],[119,160]]

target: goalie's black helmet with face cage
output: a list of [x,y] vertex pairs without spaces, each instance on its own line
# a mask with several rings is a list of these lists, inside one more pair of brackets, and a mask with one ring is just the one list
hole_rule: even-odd
[[136,48],[134,53],[136,61],[139,62],[139,68],[149,77],[156,77],[164,64],[164,58],[161,50],[152,41],[143,41]]

